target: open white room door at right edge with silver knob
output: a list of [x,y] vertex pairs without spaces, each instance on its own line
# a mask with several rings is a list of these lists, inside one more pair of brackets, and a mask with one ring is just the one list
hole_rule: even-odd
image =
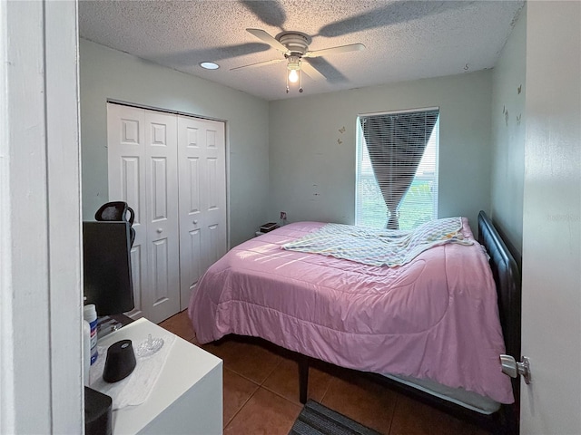
[[527,4],[521,433],[581,433],[581,2]]

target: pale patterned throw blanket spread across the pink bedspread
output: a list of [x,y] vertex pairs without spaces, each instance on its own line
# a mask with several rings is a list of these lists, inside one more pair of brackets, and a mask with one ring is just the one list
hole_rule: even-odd
[[335,256],[369,266],[403,266],[430,247],[472,245],[461,233],[462,218],[431,220],[411,231],[327,224],[283,249]]

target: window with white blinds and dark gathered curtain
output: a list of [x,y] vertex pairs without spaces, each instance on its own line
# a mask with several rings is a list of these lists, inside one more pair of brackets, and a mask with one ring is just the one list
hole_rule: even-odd
[[439,111],[358,118],[355,224],[412,229],[438,218]]

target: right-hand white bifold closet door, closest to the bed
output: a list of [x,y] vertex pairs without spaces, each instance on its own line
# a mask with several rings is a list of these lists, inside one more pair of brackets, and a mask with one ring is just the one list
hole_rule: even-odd
[[178,117],[181,307],[226,253],[225,124]]

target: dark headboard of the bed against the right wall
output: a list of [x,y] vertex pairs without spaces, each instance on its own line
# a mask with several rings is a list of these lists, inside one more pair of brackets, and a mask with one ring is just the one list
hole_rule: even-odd
[[[499,236],[484,211],[478,214],[478,242],[486,247],[490,268],[497,283],[498,314],[505,338],[507,354],[520,361],[521,276],[515,257]],[[520,379],[512,380],[515,394],[514,417],[518,419]],[[517,425],[517,421],[515,422]],[[517,429],[517,428],[514,428]]]

